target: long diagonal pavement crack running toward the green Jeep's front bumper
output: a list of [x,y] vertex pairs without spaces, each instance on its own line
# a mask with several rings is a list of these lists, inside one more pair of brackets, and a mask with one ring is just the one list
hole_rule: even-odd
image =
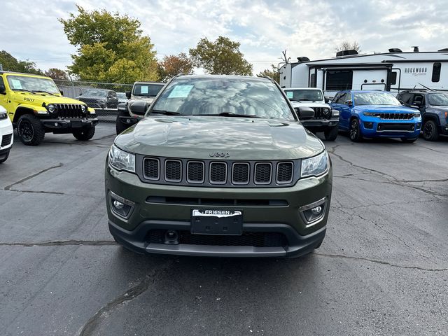
[[124,302],[134,300],[141,294],[148,290],[149,286],[155,282],[155,278],[165,272],[173,262],[169,262],[167,266],[155,270],[152,274],[147,274],[144,279],[141,279],[135,286],[132,286],[125,293],[118,295],[112,301],[106,303],[101,307],[89,320],[76,332],[76,336],[88,336],[93,335],[93,332],[97,329],[99,323],[101,323],[104,318],[108,317],[111,312],[123,304]]

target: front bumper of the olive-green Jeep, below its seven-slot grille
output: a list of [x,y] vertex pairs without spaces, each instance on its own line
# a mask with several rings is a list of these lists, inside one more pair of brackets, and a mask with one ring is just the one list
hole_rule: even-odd
[[[318,178],[299,180],[288,188],[208,188],[165,186],[143,183],[135,174],[117,172],[106,165],[106,197],[109,230],[115,239],[137,253],[204,255],[226,257],[295,257],[309,253],[325,237],[332,189],[331,167]],[[120,218],[111,210],[109,191],[133,202],[129,218]],[[179,202],[151,202],[158,197],[176,197]],[[204,200],[284,200],[267,206],[224,206],[182,204],[181,200],[202,197]],[[300,216],[300,208],[325,198],[323,217],[309,225]],[[152,230],[177,230],[190,235],[192,209],[237,210],[243,213],[243,235],[246,233],[281,234],[286,244],[281,246],[164,244],[148,238]],[[193,235],[193,234],[191,234]],[[201,235],[193,235],[200,239]],[[216,236],[214,236],[216,237]],[[225,236],[229,237],[229,236]]]

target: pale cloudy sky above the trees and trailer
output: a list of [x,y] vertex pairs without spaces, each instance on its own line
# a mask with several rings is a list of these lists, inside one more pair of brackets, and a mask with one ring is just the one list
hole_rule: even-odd
[[282,50],[293,60],[327,58],[342,41],[358,41],[362,52],[448,48],[448,0],[3,0],[0,50],[40,69],[65,69],[76,49],[57,18],[76,13],[75,3],[137,18],[159,58],[188,53],[202,37],[228,36],[254,73],[279,63]]

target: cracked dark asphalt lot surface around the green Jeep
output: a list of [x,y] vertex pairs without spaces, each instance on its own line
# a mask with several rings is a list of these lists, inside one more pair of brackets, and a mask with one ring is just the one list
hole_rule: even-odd
[[107,228],[115,137],[16,141],[0,166],[1,335],[446,335],[448,139],[326,142],[327,236],[304,258],[135,255]]

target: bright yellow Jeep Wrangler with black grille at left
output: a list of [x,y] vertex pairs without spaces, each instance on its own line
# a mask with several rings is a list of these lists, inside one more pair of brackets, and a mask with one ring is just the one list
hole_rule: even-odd
[[75,99],[62,97],[49,77],[0,71],[0,105],[17,128],[20,141],[40,144],[45,133],[71,133],[90,140],[98,123],[94,109]]

